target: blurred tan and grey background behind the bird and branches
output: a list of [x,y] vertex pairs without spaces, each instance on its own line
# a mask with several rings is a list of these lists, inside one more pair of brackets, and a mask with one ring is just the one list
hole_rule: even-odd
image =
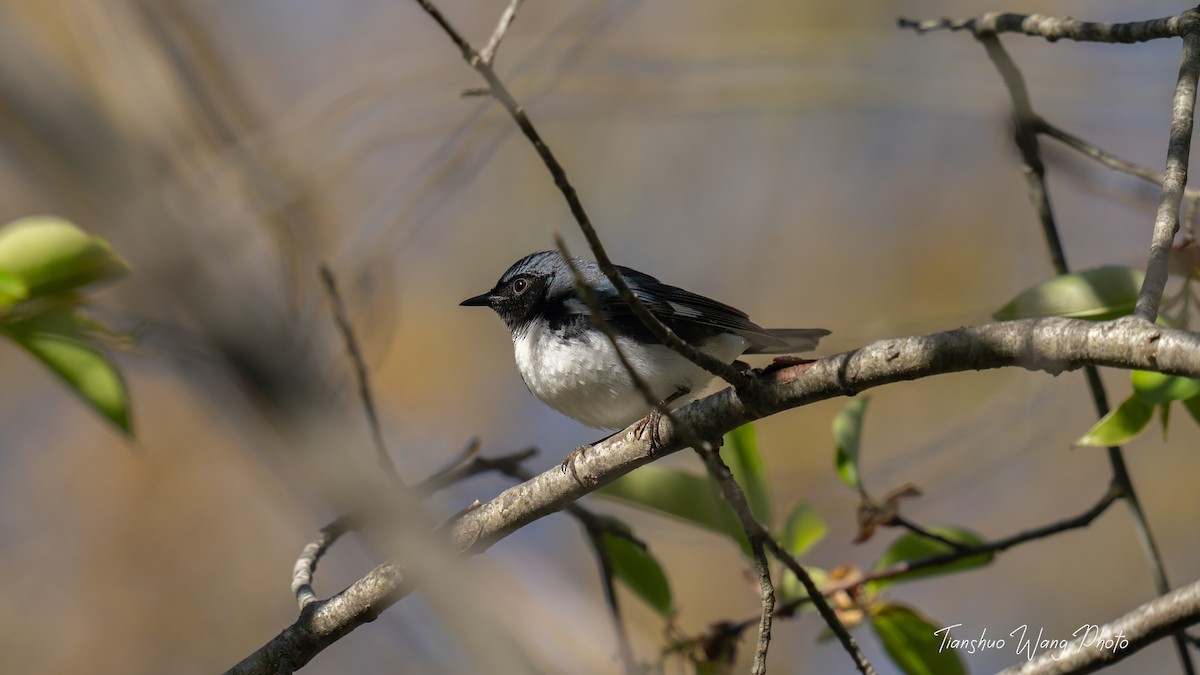
[[[481,46],[505,2],[440,5]],[[822,353],[835,353],[986,322],[1051,275],[983,49],[895,28],[989,10],[1121,22],[1180,5],[529,1],[498,71],[617,262],[764,325],[829,328]],[[1042,115],[1162,168],[1177,41],[1004,42]],[[53,213],[107,238],[136,273],[100,295],[100,315],[139,335],[118,354],[134,443],[0,342],[0,671],[220,671],[294,621],[296,555],[378,480],[322,261],[409,480],[472,436],[485,454],[539,448],[539,471],[598,437],[526,392],[496,316],[457,306],[551,247],[554,228],[586,251],[500,107],[460,97],[479,85],[415,2],[0,2],[0,220]],[[1157,189],[1043,147],[1070,264],[1144,265]],[[1128,395],[1126,374],[1105,380],[1114,401]],[[1106,486],[1103,450],[1070,449],[1094,422],[1079,374],[961,374],[870,395],[866,484],[919,485],[916,521],[1001,537],[1074,515]],[[840,405],[762,422],[761,447],[776,512],[805,500],[829,522],[808,562],[866,567],[895,533],[850,544],[857,496],[833,472],[829,435]],[[1198,432],[1182,418],[1169,442],[1148,432],[1127,450],[1176,584],[1200,563]],[[670,461],[701,471],[689,453]],[[431,512],[509,484],[472,479]],[[586,502],[650,544],[684,633],[757,611],[728,540]],[[386,555],[350,537],[317,592]],[[618,668],[595,561],[566,516],[428,587],[305,671]],[[635,652],[653,659],[662,623],[620,593]],[[1120,504],[983,571],[892,591],[962,637],[1027,625],[1066,638],[1153,595]],[[821,631],[811,615],[779,621],[772,670],[848,671]],[[857,634],[894,671],[870,631]],[[750,649],[748,634],[739,671]],[[966,658],[984,673],[1019,657]],[[1163,641],[1110,671],[1176,668]]]

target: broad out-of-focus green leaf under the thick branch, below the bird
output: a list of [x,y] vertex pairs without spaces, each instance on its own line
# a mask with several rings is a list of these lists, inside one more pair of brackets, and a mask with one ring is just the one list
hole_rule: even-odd
[[650,464],[600,488],[596,494],[720,532],[744,551],[750,550],[737,514],[707,476]]

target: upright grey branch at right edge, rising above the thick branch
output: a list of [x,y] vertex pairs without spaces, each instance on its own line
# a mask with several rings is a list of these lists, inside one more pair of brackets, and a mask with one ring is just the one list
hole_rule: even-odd
[[1171,255],[1175,233],[1180,229],[1180,203],[1188,184],[1188,156],[1192,154],[1192,126],[1196,104],[1196,79],[1200,77],[1200,32],[1183,36],[1180,77],[1175,82],[1175,103],[1171,108],[1171,138],[1166,147],[1166,169],[1163,172],[1163,192],[1154,215],[1154,235],[1150,244],[1146,279],[1138,294],[1134,310],[1146,321],[1158,318],[1158,304],[1166,287],[1166,263]]

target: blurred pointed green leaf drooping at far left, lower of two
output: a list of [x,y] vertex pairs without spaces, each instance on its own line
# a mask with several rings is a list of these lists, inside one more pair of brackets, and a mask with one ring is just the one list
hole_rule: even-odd
[[132,435],[125,381],[92,346],[86,325],[78,310],[59,306],[6,323],[0,331],[49,368],[104,419]]

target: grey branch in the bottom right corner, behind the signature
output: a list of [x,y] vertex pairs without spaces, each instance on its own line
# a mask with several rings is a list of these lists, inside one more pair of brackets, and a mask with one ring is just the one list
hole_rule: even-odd
[[1166,635],[1182,634],[1184,628],[1198,622],[1200,581],[1193,581],[1138,607],[1116,621],[1081,628],[1084,634],[1066,647],[1044,651],[1032,661],[1001,670],[1000,675],[1092,673],[1123,661]]

